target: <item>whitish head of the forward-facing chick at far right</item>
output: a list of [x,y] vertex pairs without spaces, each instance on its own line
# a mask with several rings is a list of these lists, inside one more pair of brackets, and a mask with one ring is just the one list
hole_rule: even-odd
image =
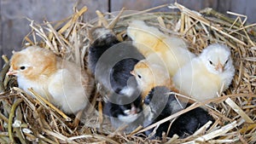
[[233,66],[230,49],[223,44],[214,43],[209,45],[202,51],[200,58],[207,70],[214,74],[223,73]]

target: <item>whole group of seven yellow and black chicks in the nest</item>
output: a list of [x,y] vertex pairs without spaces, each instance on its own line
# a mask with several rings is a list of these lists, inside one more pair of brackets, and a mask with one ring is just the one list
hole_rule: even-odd
[[[83,110],[95,84],[100,84],[100,92],[107,98],[103,112],[113,128],[125,127],[127,133],[191,105],[174,93],[207,101],[220,89],[227,89],[234,77],[230,49],[222,44],[211,44],[197,56],[182,38],[166,35],[142,20],[131,21],[127,35],[132,42],[119,42],[104,27],[91,29],[90,72],[49,49],[31,46],[14,53],[8,75],[17,77],[21,89],[34,89],[67,114]],[[198,107],[144,134],[156,138],[166,132],[169,137],[185,137],[208,121],[214,119]]]

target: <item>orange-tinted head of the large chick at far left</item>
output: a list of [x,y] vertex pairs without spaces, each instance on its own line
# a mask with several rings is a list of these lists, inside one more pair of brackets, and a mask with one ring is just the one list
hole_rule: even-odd
[[55,65],[56,57],[51,51],[32,46],[14,53],[7,74],[34,80],[39,75],[49,76],[55,72]]

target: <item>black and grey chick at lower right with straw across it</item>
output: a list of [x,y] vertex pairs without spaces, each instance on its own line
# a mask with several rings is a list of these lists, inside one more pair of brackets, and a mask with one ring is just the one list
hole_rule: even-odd
[[[155,87],[150,91],[148,96],[145,98],[144,103],[150,107],[151,116],[145,119],[144,126],[154,124],[161,119],[167,118],[173,113],[181,111],[183,108],[190,106],[190,104],[177,101],[175,95],[170,93],[171,90],[164,86]],[[161,97],[161,99],[159,99],[159,97]],[[214,122],[214,119],[208,114],[207,111],[201,107],[197,107],[189,112],[183,113],[176,118],[173,123],[171,120],[160,124],[152,138],[161,138],[163,132],[165,132],[168,137],[172,137],[172,135],[177,134],[180,138],[184,138],[194,134],[196,130],[201,128],[201,126],[204,124],[207,124],[208,121]],[[171,123],[171,128],[167,134]],[[145,134],[150,135],[153,130],[154,129],[148,130],[145,132]]]

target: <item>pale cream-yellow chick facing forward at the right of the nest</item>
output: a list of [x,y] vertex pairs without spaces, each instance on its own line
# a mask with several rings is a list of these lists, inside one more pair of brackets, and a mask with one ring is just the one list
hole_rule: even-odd
[[173,77],[173,83],[182,94],[196,101],[207,101],[217,97],[223,84],[224,89],[227,89],[234,74],[230,49],[214,43],[179,69]]

